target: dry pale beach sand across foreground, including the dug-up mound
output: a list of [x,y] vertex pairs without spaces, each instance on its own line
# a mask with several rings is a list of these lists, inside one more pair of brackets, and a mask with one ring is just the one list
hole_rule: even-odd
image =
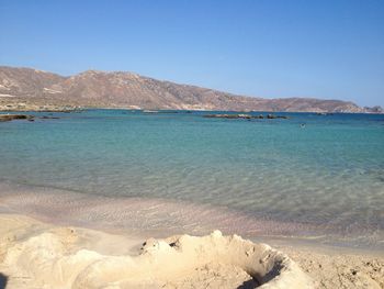
[[218,231],[143,244],[0,214],[0,287],[7,288],[384,288],[383,266],[382,257],[276,251]]

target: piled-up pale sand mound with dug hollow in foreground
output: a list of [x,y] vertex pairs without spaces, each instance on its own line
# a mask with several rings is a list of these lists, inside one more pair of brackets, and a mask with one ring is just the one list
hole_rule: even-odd
[[[237,235],[223,236],[219,231],[203,237],[148,240],[136,256],[84,249],[79,232],[55,229],[13,238],[3,265],[11,276],[27,279],[25,288],[312,287],[286,255]],[[109,236],[92,233],[92,240],[98,237]],[[114,238],[110,241],[113,246]]]

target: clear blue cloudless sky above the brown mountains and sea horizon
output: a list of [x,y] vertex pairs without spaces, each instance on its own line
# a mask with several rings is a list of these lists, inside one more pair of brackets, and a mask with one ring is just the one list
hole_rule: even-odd
[[0,65],[384,105],[384,0],[0,0]]

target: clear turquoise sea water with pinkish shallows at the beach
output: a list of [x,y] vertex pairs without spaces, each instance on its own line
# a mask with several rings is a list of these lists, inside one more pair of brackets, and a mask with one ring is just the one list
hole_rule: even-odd
[[[75,191],[87,202],[113,199],[109,215],[129,208],[131,219],[150,202],[147,229],[201,227],[204,218],[195,214],[206,214],[225,230],[241,215],[230,231],[252,236],[263,227],[272,235],[384,247],[384,115],[279,113],[290,119],[247,121],[185,111],[52,114],[60,119],[0,123],[1,182],[33,188],[34,196],[44,187]],[[173,212],[180,218],[168,222]],[[134,226],[124,213],[114,218]]]

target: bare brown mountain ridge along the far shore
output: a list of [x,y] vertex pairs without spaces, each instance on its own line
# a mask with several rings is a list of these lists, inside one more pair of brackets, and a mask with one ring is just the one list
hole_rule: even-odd
[[236,111],[364,112],[353,102],[310,98],[262,99],[160,81],[132,73],[88,70],[64,77],[0,66],[0,109],[52,107]]

